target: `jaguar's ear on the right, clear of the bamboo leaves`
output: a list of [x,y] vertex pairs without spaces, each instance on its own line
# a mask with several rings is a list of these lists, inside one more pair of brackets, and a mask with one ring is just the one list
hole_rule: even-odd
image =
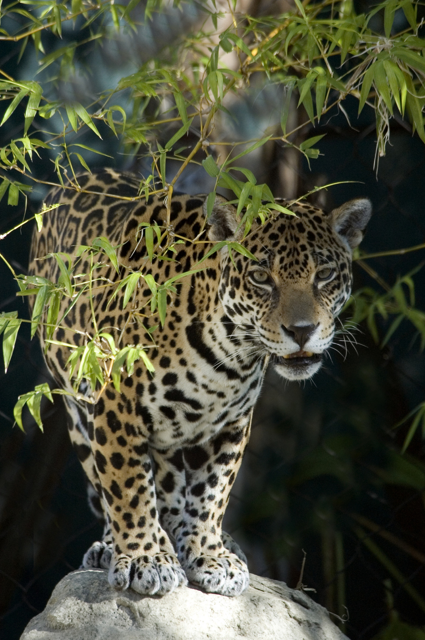
[[367,198],[349,200],[330,212],[334,229],[354,249],[363,239],[363,231],[372,215],[372,204]]

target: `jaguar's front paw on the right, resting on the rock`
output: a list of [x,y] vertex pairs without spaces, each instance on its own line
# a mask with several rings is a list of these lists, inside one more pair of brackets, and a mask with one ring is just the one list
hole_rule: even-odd
[[249,587],[247,565],[235,554],[199,556],[184,566],[187,579],[207,593],[238,596]]

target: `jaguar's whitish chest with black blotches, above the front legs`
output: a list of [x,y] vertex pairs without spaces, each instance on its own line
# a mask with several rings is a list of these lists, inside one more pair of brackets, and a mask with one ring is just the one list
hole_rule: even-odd
[[[128,381],[128,390],[126,381],[122,387],[123,418],[134,412],[141,428],[149,431],[151,446],[158,449],[208,440],[251,412],[261,389],[264,356],[254,353],[243,363],[236,355],[223,358],[223,342],[215,353],[205,332],[193,330],[193,325],[191,329],[192,344],[187,337],[180,342],[184,357],[170,357],[173,353],[165,349],[158,362],[153,357],[153,374]],[[229,342],[229,350],[232,347]]]

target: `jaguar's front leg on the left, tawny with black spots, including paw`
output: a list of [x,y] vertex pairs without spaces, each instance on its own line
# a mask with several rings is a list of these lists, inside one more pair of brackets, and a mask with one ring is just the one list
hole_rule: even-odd
[[109,396],[88,420],[106,526],[113,539],[109,583],[116,589],[131,586],[138,593],[163,595],[187,579],[158,522],[148,434],[121,421],[115,394]]

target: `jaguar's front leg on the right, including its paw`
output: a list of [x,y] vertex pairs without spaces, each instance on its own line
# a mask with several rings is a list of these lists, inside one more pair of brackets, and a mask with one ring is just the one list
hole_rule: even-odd
[[186,500],[176,534],[187,578],[204,591],[237,596],[249,586],[246,563],[222,543],[221,524],[249,439],[251,413],[202,445],[183,451]]

